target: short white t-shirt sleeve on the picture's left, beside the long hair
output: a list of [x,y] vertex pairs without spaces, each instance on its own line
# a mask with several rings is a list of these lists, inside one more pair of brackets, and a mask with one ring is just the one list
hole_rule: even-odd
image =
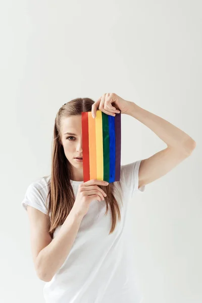
[[33,182],[28,186],[21,205],[26,211],[27,205],[29,205],[41,211],[42,213],[47,214],[43,191],[37,182]]

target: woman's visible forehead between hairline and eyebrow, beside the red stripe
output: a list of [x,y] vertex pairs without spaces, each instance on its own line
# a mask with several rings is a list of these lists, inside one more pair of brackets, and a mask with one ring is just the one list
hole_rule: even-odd
[[82,130],[81,115],[63,118],[61,130],[63,135],[66,132],[79,134]]

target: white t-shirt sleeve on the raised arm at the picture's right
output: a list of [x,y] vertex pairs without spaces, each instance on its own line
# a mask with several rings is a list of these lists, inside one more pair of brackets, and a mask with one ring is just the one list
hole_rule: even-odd
[[140,163],[141,160],[138,160],[121,166],[121,177],[127,188],[131,191],[131,195],[137,190],[138,192],[145,191],[145,185],[138,188]]

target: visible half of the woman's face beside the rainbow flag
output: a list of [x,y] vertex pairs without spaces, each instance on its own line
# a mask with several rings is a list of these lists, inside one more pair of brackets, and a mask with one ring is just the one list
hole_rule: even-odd
[[65,156],[72,165],[74,175],[81,177],[83,162],[75,159],[83,157],[81,115],[63,118],[61,132]]

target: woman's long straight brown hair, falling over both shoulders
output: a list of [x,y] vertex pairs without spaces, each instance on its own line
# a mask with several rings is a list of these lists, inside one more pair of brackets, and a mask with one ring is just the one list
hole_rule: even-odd
[[[93,103],[94,101],[90,98],[76,98],[63,105],[56,115],[52,147],[51,186],[46,199],[46,208],[48,210],[48,214],[50,213],[49,233],[52,237],[55,229],[64,223],[75,201],[74,191],[70,182],[72,168],[65,156],[62,144],[61,121],[66,117],[81,115],[82,112],[91,112]],[[117,183],[121,188],[120,181],[117,181]],[[111,234],[117,224],[117,215],[118,220],[121,220],[119,204],[114,196],[114,182],[109,183],[108,186],[98,186],[107,194],[105,197],[107,207],[105,215],[108,213],[109,205],[111,208],[112,226],[109,233]]]

